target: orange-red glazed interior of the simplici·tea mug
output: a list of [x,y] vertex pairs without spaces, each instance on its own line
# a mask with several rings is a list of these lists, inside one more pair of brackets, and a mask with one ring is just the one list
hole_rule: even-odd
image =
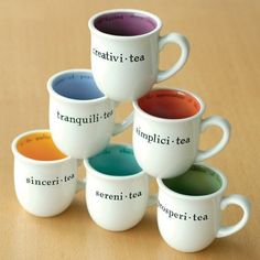
[[164,119],[188,118],[201,110],[195,97],[177,89],[152,90],[139,98],[138,105],[147,113]]

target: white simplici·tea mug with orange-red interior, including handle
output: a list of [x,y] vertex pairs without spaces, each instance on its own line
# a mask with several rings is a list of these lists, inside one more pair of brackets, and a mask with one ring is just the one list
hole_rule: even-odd
[[[133,152],[144,172],[154,177],[184,173],[194,162],[219,152],[229,141],[230,124],[218,116],[202,119],[203,100],[186,90],[153,89],[133,101]],[[223,130],[221,140],[199,151],[199,136],[207,127]]]

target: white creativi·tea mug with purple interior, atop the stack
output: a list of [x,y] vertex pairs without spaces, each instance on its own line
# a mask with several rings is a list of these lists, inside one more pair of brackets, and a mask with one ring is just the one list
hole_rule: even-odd
[[[178,33],[160,36],[162,21],[154,14],[116,9],[93,15],[91,69],[97,86],[113,100],[137,99],[154,83],[170,78],[186,63],[188,42]],[[178,61],[167,71],[159,71],[159,53],[167,44],[181,48]]]

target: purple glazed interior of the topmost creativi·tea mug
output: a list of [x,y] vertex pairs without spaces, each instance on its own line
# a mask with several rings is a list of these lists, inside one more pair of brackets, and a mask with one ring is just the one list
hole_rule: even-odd
[[158,23],[151,17],[139,12],[112,12],[96,18],[94,26],[106,34],[137,36],[153,31]]

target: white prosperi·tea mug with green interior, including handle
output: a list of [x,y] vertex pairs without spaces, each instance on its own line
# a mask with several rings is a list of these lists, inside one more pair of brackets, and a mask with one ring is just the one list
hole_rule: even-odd
[[[217,169],[194,164],[183,175],[158,178],[158,226],[165,242],[180,251],[195,252],[215,238],[230,236],[245,227],[250,202],[242,195],[224,196],[227,178]],[[241,207],[243,216],[232,226],[221,226],[221,210]]]

